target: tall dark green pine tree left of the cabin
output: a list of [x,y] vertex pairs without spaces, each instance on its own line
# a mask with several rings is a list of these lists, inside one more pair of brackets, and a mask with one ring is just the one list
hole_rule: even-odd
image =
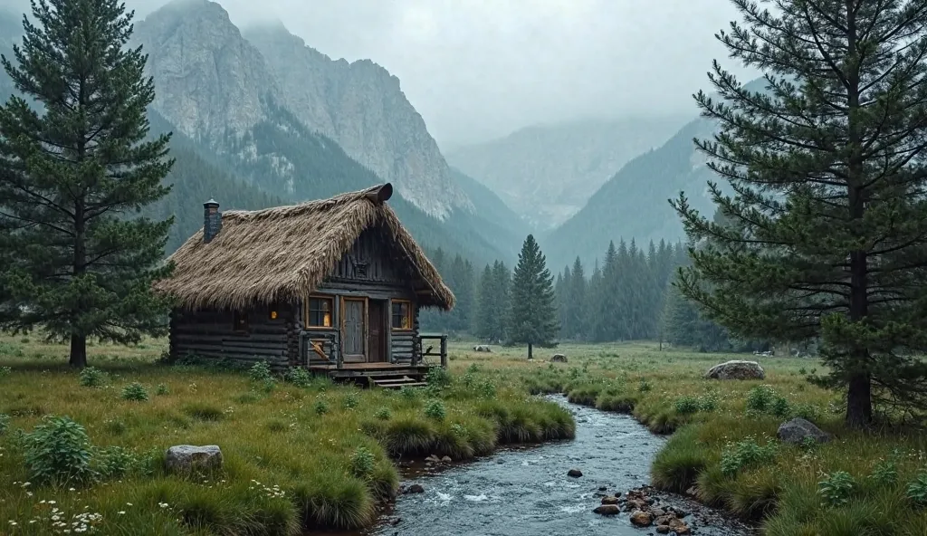
[[0,108],[0,325],[121,343],[163,332],[152,282],[171,220],[133,211],[163,198],[168,135],[146,140],[154,83],[128,48],[132,13],[118,0],[34,0],[6,73],[19,96]]

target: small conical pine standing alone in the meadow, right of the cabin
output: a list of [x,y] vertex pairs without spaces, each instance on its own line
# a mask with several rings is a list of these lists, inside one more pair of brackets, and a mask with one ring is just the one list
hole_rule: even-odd
[[534,345],[555,346],[557,312],[554,308],[553,277],[534,236],[528,235],[512,278],[512,313],[509,316],[509,345],[527,344],[528,359]]

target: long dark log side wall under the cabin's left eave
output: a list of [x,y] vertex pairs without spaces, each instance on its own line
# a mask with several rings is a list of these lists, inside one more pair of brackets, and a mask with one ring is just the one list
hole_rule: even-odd
[[298,346],[291,351],[298,345],[296,308],[274,306],[275,319],[271,310],[263,306],[244,312],[248,327],[239,331],[232,311],[175,309],[171,312],[171,357],[231,359],[241,364],[266,361],[275,369],[286,368],[291,356],[298,356]]

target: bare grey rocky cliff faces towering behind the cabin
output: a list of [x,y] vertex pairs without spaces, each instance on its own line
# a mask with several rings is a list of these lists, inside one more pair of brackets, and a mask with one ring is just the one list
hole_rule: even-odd
[[[332,60],[280,24],[243,36],[208,0],[161,7],[136,24],[134,41],[148,54],[154,108],[184,134],[220,150],[231,141],[235,150],[260,152],[241,140],[286,108],[425,213],[446,219],[474,211],[399,79],[372,61]],[[280,167],[292,171],[290,162]]]

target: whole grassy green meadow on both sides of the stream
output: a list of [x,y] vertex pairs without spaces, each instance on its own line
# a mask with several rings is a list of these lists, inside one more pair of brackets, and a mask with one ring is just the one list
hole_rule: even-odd
[[[545,392],[672,432],[654,484],[694,487],[706,504],[761,521],[767,534],[927,534],[927,436],[845,429],[840,397],[806,382],[814,360],[759,357],[765,380],[719,382],[702,375],[738,356],[629,343],[563,345],[527,362],[525,349],[469,348],[451,344],[450,376],[428,388],[386,391],[157,364],[158,340],[90,348],[100,372],[81,376],[64,346],[0,338],[0,414],[8,415],[0,416],[0,534],[55,533],[61,522],[115,534],[363,527],[396,490],[396,459],[462,460],[505,443],[571,437],[568,413],[529,396]],[[569,363],[547,363],[554,352]],[[147,400],[125,398],[142,392]],[[43,415],[83,425],[91,479],[30,481],[23,432]],[[776,429],[794,415],[834,440],[781,445]],[[183,443],[220,445],[222,471],[165,475],[165,448]]]

